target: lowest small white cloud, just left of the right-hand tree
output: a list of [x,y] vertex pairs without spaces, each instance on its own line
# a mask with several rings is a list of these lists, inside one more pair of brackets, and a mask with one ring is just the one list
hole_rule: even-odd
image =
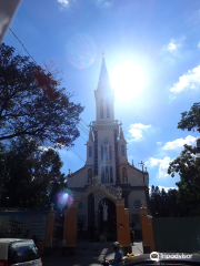
[[147,165],[149,165],[150,167],[153,166],[159,166],[159,172],[158,172],[158,176],[159,177],[164,177],[168,176],[168,167],[169,167],[169,163],[172,161],[172,158],[170,157],[164,157],[164,158],[154,158],[154,157],[150,157],[148,162],[146,162]]

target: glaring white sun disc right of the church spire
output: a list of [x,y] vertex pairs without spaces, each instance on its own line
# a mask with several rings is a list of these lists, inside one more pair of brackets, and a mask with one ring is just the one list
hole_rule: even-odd
[[110,82],[117,99],[130,101],[143,88],[144,75],[140,65],[132,61],[121,62],[111,72]]

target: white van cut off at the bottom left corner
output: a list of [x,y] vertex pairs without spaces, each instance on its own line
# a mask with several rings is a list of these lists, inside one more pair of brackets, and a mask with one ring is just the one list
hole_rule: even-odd
[[42,266],[32,239],[0,238],[0,266],[11,265]]

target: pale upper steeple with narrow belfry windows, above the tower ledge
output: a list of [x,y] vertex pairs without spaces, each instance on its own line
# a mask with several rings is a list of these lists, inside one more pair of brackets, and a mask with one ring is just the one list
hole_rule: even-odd
[[102,57],[101,70],[99,75],[98,88],[94,91],[96,96],[96,120],[97,121],[113,121],[114,120],[114,93],[111,89],[109,74]]

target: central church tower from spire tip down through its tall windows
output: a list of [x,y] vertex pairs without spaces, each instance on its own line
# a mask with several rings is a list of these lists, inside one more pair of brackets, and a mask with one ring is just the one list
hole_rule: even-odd
[[102,57],[94,98],[96,121],[91,126],[94,136],[94,175],[100,176],[104,185],[116,185],[119,181],[119,124],[114,120],[114,92],[110,84],[104,57]]

